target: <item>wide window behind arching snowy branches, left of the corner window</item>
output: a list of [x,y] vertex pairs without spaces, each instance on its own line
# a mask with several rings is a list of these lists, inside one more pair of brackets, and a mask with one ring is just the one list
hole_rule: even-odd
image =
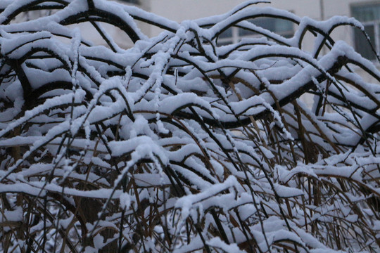
[[[293,22],[289,20],[283,20],[281,18],[255,18],[248,21],[283,37],[289,38],[293,36]],[[220,34],[217,44],[226,45],[237,43],[245,37],[260,37],[260,34],[239,27],[230,27]]]

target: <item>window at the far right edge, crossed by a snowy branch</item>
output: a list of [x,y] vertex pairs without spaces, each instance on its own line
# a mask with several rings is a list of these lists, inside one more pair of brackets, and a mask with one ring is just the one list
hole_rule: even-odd
[[[353,17],[362,22],[365,32],[376,51],[380,49],[380,4],[368,4],[365,6],[353,6]],[[369,60],[375,60],[376,56],[371,50],[367,39],[358,29],[354,30],[355,50]]]

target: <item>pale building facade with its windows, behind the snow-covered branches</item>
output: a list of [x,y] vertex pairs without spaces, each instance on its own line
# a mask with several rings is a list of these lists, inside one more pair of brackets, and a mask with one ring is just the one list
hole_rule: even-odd
[[[169,18],[177,22],[197,18],[220,15],[230,11],[244,0],[118,0],[124,4],[134,4],[146,11]],[[299,17],[310,17],[313,20],[327,20],[335,15],[355,17],[365,26],[376,51],[380,51],[380,0],[272,0],[270,4],[258,4],[258,7],[270,6],[291,11]],[[273,32],[285,37],[291,37],[297,29],[291,22],[262,18],[255,21]],[[162,30],[158,27],[141,27],[149,37],[158,35]],[[116,33],[117,34],[117,33]],[[236,43],[243,37],[249,37],[246,30],[233,27],[220,37],[220,44]],[[375,60],[375,55],[359,30],[350,26],[338,27],[331,36],[343,40],[369,60]],[[125,39],[121,39],[125,41]],[[305,39],[303,48],[312,48],[312,38]]]

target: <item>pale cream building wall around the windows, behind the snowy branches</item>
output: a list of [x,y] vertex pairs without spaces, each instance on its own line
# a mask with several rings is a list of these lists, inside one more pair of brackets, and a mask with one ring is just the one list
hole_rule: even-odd
[[[148,2],[149,4],[146,4]],[[243,2],[244,0],[141,0],[141,3],[150,6],[149,11],[177,22],[220,15]],[[258,6],[272,6],[291,11],[300,17],[308,16],[315,20],[326,20],[334,15],[350,16],[352,4],[379,2],[379,0],[272,0],[271,2],[271,4],[258,4]],[[152,27],[150,36],[156,36],[160,32],[158,27]],[[342,39],[352,44],[350,27],[336,30],[333,36],[335,39]]]

